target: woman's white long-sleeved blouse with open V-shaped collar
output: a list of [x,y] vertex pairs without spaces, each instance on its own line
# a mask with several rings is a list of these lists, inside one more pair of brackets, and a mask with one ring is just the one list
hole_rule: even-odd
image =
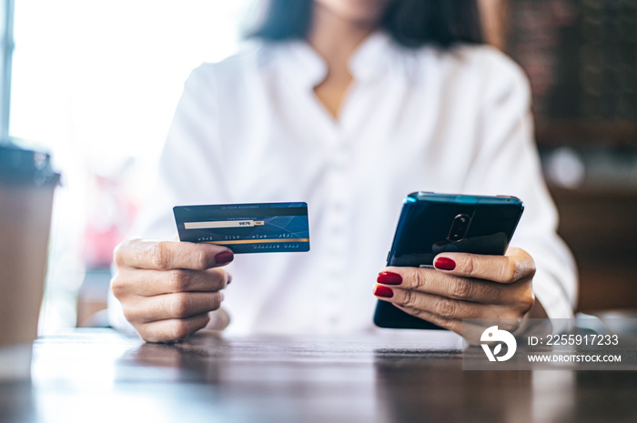
[[[489,46],[416,50],[371,35],[334,120],[312,88],[327,67],[305,42],[264,43],[188,78],[134,235],[171,239],[172,207],[308,203],[308,253],[237,255],[231,333],[355,333],[372,323],[403,197],[413,191],[518,196],[511,246],[536,262],[536,297],[572,317],[577,283],[533,142],[521,69]],[[114,301],[116,327],[126,321]]]

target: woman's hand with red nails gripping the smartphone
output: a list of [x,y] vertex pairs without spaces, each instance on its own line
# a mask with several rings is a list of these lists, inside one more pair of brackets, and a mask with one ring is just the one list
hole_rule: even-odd
[[520,248],[505,256],[442,253],[434,267],[386,267],[374,295],[460,335],[463,318],[517,319],[519,326],[536,304],[535,263]]

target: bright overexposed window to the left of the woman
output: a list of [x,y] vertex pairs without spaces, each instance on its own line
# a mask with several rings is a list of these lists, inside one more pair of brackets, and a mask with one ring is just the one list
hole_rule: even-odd
[[250,0],[17,0],[10,135],[56,193],[41,332],[76,324],[85,270],[126,232],[189,72],[231,54]]

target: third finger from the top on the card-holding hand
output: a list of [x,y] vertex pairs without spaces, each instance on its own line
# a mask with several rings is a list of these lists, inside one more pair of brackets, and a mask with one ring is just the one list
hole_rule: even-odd
[[193,317],[216,310],[221,306],[222,300],[222,292],[188,292],[144,297],[126,305],[124,315],[133,324]]

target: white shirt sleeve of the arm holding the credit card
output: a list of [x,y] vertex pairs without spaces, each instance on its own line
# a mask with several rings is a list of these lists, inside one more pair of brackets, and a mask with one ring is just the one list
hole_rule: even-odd
[[[201,65],[188,77],[159,159],[155,186],[130,237],[176,239],[173,206],[228,202],[227,174],[217,146],[214,83],[212,65]],[[134,330],[110,290],[108,317],[111,326]]]

